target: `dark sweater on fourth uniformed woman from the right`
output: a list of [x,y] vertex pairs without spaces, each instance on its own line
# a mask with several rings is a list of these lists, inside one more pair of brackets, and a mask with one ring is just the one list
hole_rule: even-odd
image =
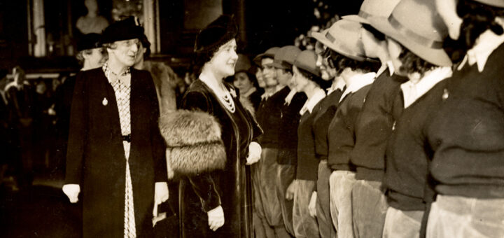
[[336,170],[355,171],[350,164],[350,153],[355,146],[355,128],[371,85],[352,92],[339,104],[336,115],[328,129],[328,166]]

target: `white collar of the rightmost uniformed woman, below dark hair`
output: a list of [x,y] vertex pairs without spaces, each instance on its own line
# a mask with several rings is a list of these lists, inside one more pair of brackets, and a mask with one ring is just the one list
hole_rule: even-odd
[[[498,19],[499,18],[496,18],[496,21]],[[503,23],[500,21],[497,22],[504,27]],[[476,42],[477,43],[465,54],[463,62],[458,66],[458,70],[462,69],[465,62],[468,62],[470,66],[476,63],[478,71],[482,72],[488,57],[504,42],[504,34],[499,36],[488,29],[478,36]]]

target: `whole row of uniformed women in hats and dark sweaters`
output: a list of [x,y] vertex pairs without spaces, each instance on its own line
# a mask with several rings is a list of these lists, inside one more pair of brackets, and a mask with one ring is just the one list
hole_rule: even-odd
[[503,28],[502,0],[365,0],[258,55],[255,235],[504,237]]

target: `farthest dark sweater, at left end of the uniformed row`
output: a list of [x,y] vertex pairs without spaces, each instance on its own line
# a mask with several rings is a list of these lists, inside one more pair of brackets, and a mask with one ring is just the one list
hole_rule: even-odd
[[267,99],[262,99],[258,111],[255,113],[257,121],[264,131],[259,137],[259,144],[262,148],[278,148],[278,128],[280,125],[281,106],[285,102],[287,94],[290,92],[288,87],[276,92]]

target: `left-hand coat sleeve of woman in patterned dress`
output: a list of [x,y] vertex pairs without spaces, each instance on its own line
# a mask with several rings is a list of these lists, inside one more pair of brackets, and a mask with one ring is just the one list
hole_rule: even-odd
[[87,141],[87,73],[78,73],[75,90],[73,91],[68,148],[66,151],[65,183],[80,183],[84,150]]

